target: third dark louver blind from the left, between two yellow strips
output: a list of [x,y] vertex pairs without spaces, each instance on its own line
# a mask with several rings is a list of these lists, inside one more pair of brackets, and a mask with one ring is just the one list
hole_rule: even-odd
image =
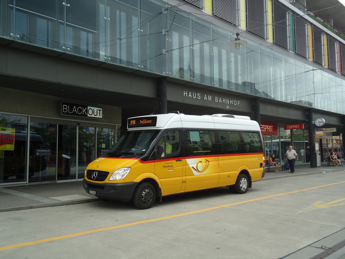
[[248,31],[267,40],[267,1],[247,0]]

